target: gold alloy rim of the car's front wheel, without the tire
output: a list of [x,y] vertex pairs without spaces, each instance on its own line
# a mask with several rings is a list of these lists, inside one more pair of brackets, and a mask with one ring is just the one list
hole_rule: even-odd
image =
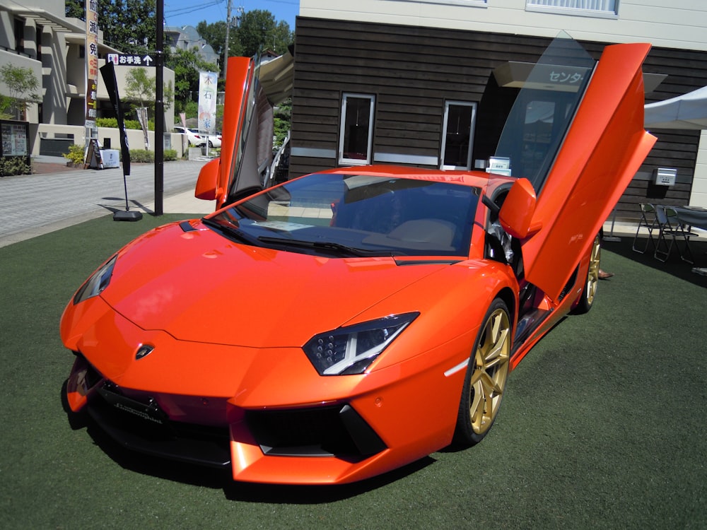
[[486,320],[474,353],[469,415],[477,435],[485,434],[491,428],[501,406],[509,358],[510,322],[508,313],[499,307]]

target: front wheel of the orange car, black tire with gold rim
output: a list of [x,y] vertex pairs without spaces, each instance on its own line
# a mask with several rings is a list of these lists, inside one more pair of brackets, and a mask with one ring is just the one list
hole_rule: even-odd
[[506,391],[512,332],[506,302],[496,298],[486,312],[469,358],[457,413],[456,444],[481,442],[496,420]]

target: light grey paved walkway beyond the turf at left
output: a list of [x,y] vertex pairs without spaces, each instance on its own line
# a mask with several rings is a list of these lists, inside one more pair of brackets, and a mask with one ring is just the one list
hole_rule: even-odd
[[[199,170],[207,160],[165,162],[164,213],[204,214],[214,201],[194,197]],[[33,164],[57,167],[62,158],[40,157]],[[133,164],[127,177],[131,210],[153,213],[155,167]],[[125,209],[122,168],[65,170],[0,178],[0,247]]]

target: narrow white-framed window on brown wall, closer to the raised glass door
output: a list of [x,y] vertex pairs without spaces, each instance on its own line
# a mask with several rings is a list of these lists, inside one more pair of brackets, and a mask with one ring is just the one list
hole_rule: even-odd
[[476,103],[448,101],[444,106],[442,130],[443,170],[470,170]]

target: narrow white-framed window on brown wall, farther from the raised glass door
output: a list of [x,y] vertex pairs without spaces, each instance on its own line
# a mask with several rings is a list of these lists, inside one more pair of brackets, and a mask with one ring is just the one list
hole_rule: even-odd
[[341,101],[339,164],[370,164],[375,96],[344,94]]

